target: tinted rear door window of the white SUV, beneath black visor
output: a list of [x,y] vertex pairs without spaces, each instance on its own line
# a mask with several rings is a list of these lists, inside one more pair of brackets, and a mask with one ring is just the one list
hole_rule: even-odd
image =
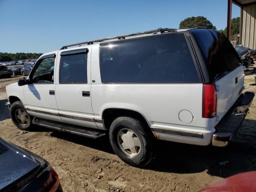
[[61,56],[60,83],[87,83],[87,53]]

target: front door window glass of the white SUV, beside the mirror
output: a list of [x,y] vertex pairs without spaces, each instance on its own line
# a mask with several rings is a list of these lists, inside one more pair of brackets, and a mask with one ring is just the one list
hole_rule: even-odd
[[[36,70],[32,76],[33,83],[53,83],[53,75],[54,75],[54,60],[55,58],[45,58],[40,62],[38,66],[36,66]],[[32,66],[27,66],[28,68],[32,68]]]

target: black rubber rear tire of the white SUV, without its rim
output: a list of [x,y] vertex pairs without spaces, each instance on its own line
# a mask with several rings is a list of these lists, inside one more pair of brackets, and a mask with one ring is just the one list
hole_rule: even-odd
[[[118,132],[123,129],[128,128],[132,130],[140,140],[140,152],[136,156],[129,156],[118,144]],[[122,116],[116,118],[111,126],[109,131],[109,138],[111,146],[116,153],[116,155],[123,160],[126,164],[142,167],[150,163],[154,155],[154,136],[150,131],[150,128],[144,122],[141,122],[137,119]]]

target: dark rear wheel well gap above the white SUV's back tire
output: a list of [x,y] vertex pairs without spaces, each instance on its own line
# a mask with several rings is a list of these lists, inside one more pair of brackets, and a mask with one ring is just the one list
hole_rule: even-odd
[[150,126],[148,121],[146,120],[146,118],[144,116],[142,116],[142,114],[140,114],[134,110],[118,109],[118,108],[110,108],[110,109],[104,110],[104,112],[102,114],[103,126],[106,129],[109,129],[112,122],[120,116],[129,116],[132,118],[136,118],[137,120],[140,120],[141,122],[144,122],[146,125]]

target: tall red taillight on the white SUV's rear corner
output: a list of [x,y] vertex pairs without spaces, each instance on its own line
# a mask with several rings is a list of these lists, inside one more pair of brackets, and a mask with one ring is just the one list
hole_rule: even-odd
[[213,118],[217,111],[215,84],[203,84],[202,118]]

